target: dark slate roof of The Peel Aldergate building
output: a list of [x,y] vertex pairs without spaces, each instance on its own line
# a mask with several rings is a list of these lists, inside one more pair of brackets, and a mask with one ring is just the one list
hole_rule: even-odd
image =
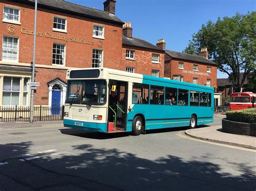
[[178,58],[178,59],[183,59],[183,60],[190,60],[190,61],[196,61],[196,62],[203,62],[203,63],[210,63],[211,65],[217,65],[217,63],[208,60],[204,58],[203,56],[199,55],[193,55],[193,54],[186,54],[183,52],[175,52],[175,51],[165,51],[166,54],[171,56],[172,58]]

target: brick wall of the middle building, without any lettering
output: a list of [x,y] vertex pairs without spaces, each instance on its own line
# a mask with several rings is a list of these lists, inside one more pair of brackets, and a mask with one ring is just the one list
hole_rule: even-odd
[[[135,60],[126,59],[126,49],[135,51]],[[160,63],[152,63],[152,54],[160,55]],[[135,73],[151,75],[152,70],[159,70],[159,77],[164,77],[164,52],[146,48],[123,45],[122,70],[133,67]]]

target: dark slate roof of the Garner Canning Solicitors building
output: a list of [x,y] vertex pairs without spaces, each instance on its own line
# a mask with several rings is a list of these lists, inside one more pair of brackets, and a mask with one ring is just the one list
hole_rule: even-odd
[[[16,2],[26,3],[35,6],[35,0],[16,0]],[[120,25],[124,24],[122,20],[120,20],[116,15],[110,14],[102,10],[87,8],[86,6],[65,2],[63,0],[38,0],[37,4],[38,7],[41,8],[70,13],[71,15],[78,15],[96,20],[104,20],[105,22],[112,22]]]

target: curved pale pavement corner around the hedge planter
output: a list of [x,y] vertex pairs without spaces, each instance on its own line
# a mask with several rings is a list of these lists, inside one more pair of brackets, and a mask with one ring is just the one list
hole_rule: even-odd
[[222,131],[222,126],[208,126],[199,129],[189,129],[185,131],[187,136],[207,140],[215,143],[240,146],[256,150],[256,137],[245,135],[234,135]]

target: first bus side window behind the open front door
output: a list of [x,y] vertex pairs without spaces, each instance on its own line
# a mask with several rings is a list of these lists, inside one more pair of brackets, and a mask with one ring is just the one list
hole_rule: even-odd
[[142,83],[133,83],[132,103],[148,104],[149,103],[149,85]]

